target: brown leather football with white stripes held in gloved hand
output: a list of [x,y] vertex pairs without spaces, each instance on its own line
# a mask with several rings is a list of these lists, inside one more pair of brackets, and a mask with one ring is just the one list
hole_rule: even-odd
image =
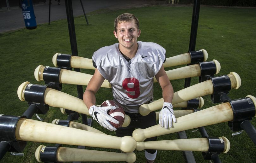
[[121,127],[125,120],[125,112],[124,112],[124,109],[122,108],[122,106],[113,100],[104,101],[101,104],[101,107],[103,107],[103,106],[115,106],[116,107],[116,109],[114,109],[114,110],[108,110],[107,114],[119,121],[119,124],[110,122],[111,125],[113,125],[115,128]]

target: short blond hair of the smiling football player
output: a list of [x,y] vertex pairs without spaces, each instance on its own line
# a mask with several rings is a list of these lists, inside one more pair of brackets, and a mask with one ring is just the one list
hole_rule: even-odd
[[117,32],[118,23],[131,22],[132,20],[134,21],[135,25],[137,26],[137,29],[139,29],[139,20],[138,20],[138,18],[136,16],[134,16],[133,14],[124,13],[124,14],[119,15],[115,19],[115,23],[114,23],[115,31]]

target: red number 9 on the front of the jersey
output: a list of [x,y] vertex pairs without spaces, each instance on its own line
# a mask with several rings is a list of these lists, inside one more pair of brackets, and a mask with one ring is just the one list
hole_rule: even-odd
[[[128,83],[133,83],[133,87],[128,87]],[[128,91],[127,96],[130,98],[137,98],[140,95],[139,80],[136,78],[126,78],[123,81],[123,88]],[[131,95],[129,92],[135,92],[135,95]]]

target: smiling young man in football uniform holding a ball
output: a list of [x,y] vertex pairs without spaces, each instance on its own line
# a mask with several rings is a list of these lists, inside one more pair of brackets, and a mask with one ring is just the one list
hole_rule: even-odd
[[[129,13],[119,15],[115,19],[114,36],[119,44],[103,47],[93,55],[96,68],[93,77],[84,92],[83,100],[89,108],[89,113],[97,122],[110,131],[116,131],[116,136],[132,136],[135,128],[148,128],[156,125],[155,112],[147,116],[138,113],[140,105],[153,101],[153,78],[157,79],[164,99],[159,115],[159,124],[166,129],[176,122],[173,113],[173,87],[164,70],[165,49],[155,43],[137,42],[140,36],[138,19]],[[112,86],[114,101],[124,109],[131,118],[128,127],[114,128],[109,121],[119,123],[107,115],[110,107],[97,107],[95,94],[107,79]],[[156,137],[145,141],[155,141]],[[156,150],[145,150],[147,162],[154,162]]]

